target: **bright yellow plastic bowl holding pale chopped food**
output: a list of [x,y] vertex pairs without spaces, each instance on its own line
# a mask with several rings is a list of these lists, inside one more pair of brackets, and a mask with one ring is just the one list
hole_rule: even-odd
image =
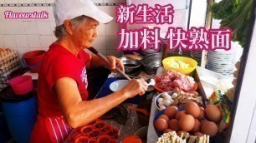
[[[189,67],[188,68],[174,68],[174,67],[170,67],[168,64],[170,62],[177,62],[177,61],[185,62],[185,63],[189,64]],[[163,67],[165,67],[166,70],[175,70],[177,72],[182,72],[185,75],[189,75],[197,67],[197,61],[192,58],[189,58],[189,57],[166,57],[162,61],[162,65],[163,65]]]

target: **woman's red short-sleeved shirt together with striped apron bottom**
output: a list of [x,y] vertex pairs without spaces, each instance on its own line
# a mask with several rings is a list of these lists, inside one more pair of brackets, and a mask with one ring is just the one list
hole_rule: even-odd
[[70,77],[76,81],[83,100],[88,97],[85,64],[90,55],[83,50],[75,57],[59,44],[52,44],[44,55],[38,76],[38,120],[33,127],[31,142],[62,142],[71,128],[65,123],[56,92],[56,81]]

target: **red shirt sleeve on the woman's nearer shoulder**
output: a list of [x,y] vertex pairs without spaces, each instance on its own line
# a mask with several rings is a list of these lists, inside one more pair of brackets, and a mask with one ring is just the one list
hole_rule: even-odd
[[[74,59],[69,55],[61,55],[55,57],[49,65],[49,69],[47,71],[47,81],[49,82],[49,86],[52,87],[55,85],[56,81],[58,81],[62,77],[70,77],[76,81],[76,71],[74,70],[75,62]],[[78,81],[76,81],[78,83]]]

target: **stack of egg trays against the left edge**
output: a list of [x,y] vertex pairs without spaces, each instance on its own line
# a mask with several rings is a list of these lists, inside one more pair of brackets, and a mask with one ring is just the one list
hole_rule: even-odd
[[8,86],[8,76],[21,67],[18,52],[9,48],[0,48],[0,91]]

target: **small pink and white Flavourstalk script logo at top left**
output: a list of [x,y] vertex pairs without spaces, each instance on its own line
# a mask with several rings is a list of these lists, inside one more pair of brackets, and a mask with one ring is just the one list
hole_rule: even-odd
[[42,12],[13,12],[13,11],[5,11],[4,12],[5,19],[48,19],[49,13]]

